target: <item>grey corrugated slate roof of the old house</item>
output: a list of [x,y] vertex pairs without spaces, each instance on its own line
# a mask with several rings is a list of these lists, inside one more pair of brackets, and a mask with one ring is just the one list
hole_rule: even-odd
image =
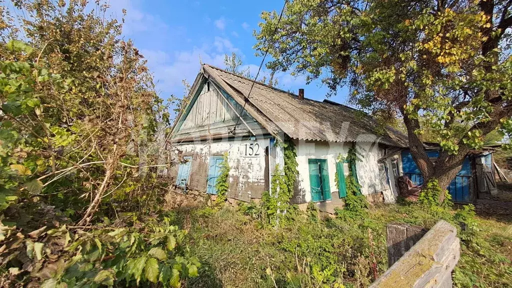
[[[252,80],[204,64],[203,71],[221,80],[241,99],[246,99]],[[299,99],[297,95],[256,82],[249,102],[291,138],[333,142],[379,142],[408,147],[407,136],[387,127],[381,129],[368,114],[334,102]]]

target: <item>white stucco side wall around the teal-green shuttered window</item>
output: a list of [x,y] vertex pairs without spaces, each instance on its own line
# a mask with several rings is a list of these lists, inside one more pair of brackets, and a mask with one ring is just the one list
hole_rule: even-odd
[[[305,191],[306,202],[311,201],[311,186],[309,181],[308,159],[327,159],[329,170],[329,183],[331,193],[338,191],[334,176],[336,161],[339,154],[347,156],[352,143],[309,142],[300,140],[296,142],[298,163],[298,186]],[[379,148],[377,143],[359,142],[356,144],[358,160],[356,162],[357,178],[361,185],[361,193],[369,195],[382,192],[380,185],[378,159]],[[335,195],[333,194],[333,198]]]

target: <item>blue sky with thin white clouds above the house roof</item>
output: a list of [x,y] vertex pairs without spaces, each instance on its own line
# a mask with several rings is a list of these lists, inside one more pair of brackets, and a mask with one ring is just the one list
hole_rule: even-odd
[[[223,68],[224,54],[236,52],[255,75],[261,58],[254,56],[252,32],[258,29],[263,10],[280,11],[283,2],[110,0],[110,5],[117,18],[123,8],[127,10],[124,37],[134,39],[158,81],[160,96],[167,98],[170,94],[183,95],[181,80],[194,81],[200,58],[203,63]],[[327,89],[319,81],[306,85],[304,77],[285,73],[278,79],[281,89],[296,92],[305,88],[307,98],[325,98]],[[338,93],[331,100],[345,103],[345,94]]]

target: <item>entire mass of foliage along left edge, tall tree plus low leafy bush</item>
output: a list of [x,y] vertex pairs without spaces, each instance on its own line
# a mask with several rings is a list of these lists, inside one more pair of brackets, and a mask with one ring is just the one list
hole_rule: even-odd
[[170,287],[196,276],[185,232],[155,216],[169,113],[143,56],[104,3],[13,5],[30,16],[0,9],[0,285]]

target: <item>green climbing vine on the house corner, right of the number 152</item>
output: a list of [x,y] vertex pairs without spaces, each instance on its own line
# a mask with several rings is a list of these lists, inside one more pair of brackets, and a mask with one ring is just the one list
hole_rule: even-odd
[[276,147],[283,147],[284,168],[279,164],[275,166],[272,176],[270,191],[266,191],[262,197],[262,208],[270,225],[278,227],[280,224],[291,221],[293,213],[290,204],[293,197],[294,185],[297,180],[297,151],[295,145],[288,136],[284,142],[276,142]]

